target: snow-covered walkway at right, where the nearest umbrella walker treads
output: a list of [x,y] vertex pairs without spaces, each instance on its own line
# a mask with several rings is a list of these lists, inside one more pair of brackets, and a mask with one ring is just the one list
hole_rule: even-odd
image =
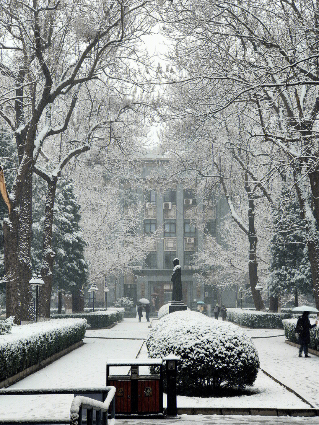
[[[260,367],[319,408],[319,357],[298,357],[298,348],[285,337],[254,339]],[[303,354],[302,354],[303,356]]]

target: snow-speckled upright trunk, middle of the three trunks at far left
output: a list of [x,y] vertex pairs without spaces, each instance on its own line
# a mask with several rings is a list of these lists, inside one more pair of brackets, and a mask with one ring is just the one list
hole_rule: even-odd
[[31,279],[31,225],[32,225],[32,167],[25,178],[20,195],[18,230],[18,273],[21,298],[21,322],[34,320]]

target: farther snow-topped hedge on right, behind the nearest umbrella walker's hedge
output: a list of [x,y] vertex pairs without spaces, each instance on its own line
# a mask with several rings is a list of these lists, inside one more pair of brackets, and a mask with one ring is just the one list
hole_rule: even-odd
[[292,317],[291,313],[268,313],[256,310],[227,309],[227,320],[248,328],[282,329],[282,320]]

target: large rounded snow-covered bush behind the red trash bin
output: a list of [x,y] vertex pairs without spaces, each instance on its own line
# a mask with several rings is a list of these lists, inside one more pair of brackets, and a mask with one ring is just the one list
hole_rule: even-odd
[[178,393],[207,395],[220,386],[253,385],[259,368],[256,348],[246,333],[230,323],[198,312],[170,313],[147,336],[149,357],[180,356]]

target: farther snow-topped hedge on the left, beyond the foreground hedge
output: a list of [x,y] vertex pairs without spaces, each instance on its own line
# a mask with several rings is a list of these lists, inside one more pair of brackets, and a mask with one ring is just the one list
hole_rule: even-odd
[[54,319],[65,319],[65,318],[80,318],[88,321],[88,327],[93,329],[106,328],[112,325],[114,322],[119,322],[124,318],[124,308],[115,309],[109,308],[104,311],[95,311],[90,313],[72,313],[72,314],[52,314],[51,317]]

